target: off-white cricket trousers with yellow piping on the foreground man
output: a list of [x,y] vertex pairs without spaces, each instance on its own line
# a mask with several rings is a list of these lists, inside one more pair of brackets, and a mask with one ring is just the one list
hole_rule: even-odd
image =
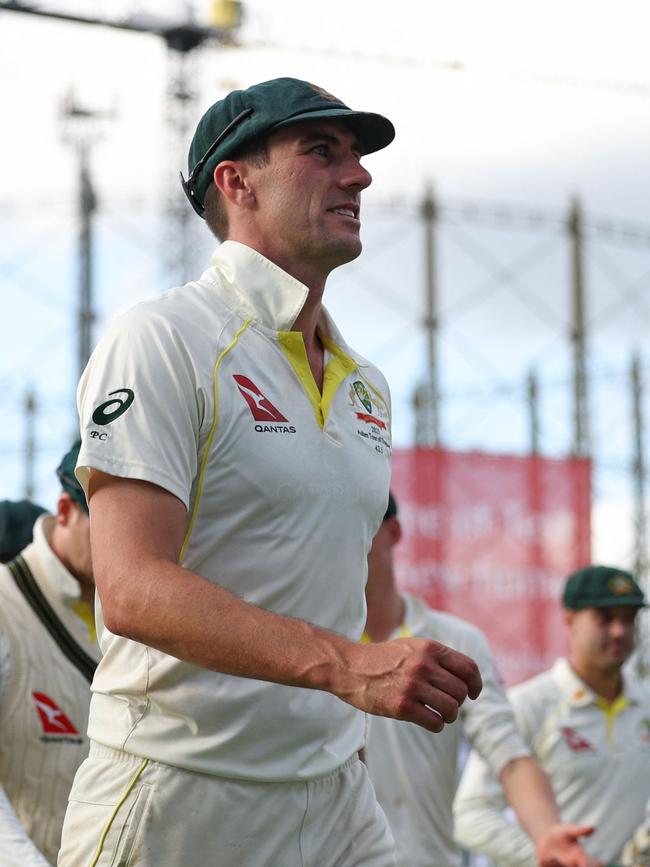
[[365,765],[306,782],[248,782],[92,743],[58,867],[394,867]]

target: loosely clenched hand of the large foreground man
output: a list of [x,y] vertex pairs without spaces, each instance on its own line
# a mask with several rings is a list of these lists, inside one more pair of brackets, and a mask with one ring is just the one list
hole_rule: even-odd
[[424,638],[353,645],[339,698],[377,716],[417,723],[432,732],[454,722],[483,686],[473,659]]

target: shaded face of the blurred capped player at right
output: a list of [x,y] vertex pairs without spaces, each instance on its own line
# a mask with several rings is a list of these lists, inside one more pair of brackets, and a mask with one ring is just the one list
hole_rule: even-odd
[[637,611],[629,605],[567,611],[572,654],[602,673],[620,669],[634,650]]

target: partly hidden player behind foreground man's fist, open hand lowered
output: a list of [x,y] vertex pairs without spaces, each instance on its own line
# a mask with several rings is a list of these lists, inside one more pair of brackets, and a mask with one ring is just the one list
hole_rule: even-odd
[[440,641],[478,663],[483,691],[467,702],[459,720],[440,734],[398,720],[371,717],[366,747],[370,778],[397,844],[400,867],[458,867],[452,803],[461,735],[480,752],[502,781],[508,799],[535,841],[540,864],[582,863],[577,839],[588,828],[561,825],[552,792],[517,732],[483,634],[458,617],[433,611],[422,599],[397,588],[394,549],[401,538],[397,503],[388,509],[368,555],[364,639],[398,635]]

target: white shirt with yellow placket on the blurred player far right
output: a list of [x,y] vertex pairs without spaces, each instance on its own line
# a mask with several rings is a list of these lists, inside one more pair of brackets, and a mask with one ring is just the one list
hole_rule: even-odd
[[[517,725],[548,774],[563,822],[594,825],[581,841],[603,863],[621,849],[644,816],[650,797],[650,691],[625,680],[611,705],[592,692],[566,659],[509,690]],[[503,815],[500,785],[472,754],[454,813],[456,834],[467,848],[499,864],[533,867],[533,845]]]

